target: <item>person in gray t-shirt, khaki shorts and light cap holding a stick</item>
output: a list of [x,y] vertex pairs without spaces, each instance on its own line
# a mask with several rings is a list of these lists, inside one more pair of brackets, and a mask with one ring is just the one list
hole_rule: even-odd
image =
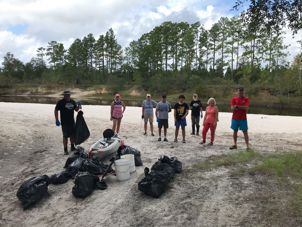
[[142,120],[144,119],[144,129],[145,132],[143,135],[147,134],[147,124],[148,120],[150,123],[150,130],[151,130],[151,136],[154,136],[153,134],[153,108],[156,106],[157,102],[150,99],[151,95],[147,94],[147,99],[143,101],[142,103]]

